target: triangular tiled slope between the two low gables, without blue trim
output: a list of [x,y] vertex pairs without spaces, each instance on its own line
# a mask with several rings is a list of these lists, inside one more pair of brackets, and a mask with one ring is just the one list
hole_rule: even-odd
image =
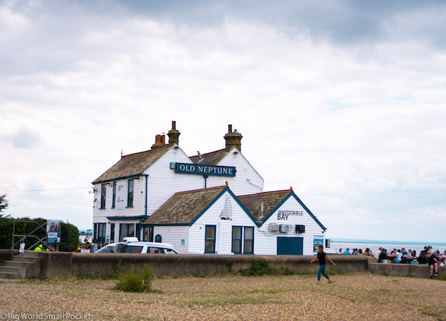
[[[265,219],[274,209],[292,193],[291,189],[284,191],[270,191],[264,193],[237,196],[239,201],[246,207],[248,212],[257,221]],[[263,203],[263,216],[261,214],[261,204]]]

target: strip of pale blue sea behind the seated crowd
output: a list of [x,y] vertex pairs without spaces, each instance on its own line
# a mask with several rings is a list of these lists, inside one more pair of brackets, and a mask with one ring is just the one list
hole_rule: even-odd
[[353,248],[361,249],[363,252],[366,248],[370,248],[375,254],[379,248],[385,248],[387,252],[391,252],[394,248],[400,250],[405,248],[406,251],[416,250],[416,256],[419,256],[420,252],[424,250],[425,246],[432,246],[432,252],[439,250],[443,253],[446,250],[446,243],[438,242],[410,242],[410,241],[377,241],[373,239],[331,239],[331,246],[325,248],[327,253],[338,253],[342,248],[342,252],[347,248],[350,248],[350,252],[353,252]]

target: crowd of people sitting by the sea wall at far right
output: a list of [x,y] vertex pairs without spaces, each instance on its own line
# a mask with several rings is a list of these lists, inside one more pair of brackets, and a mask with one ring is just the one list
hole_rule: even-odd
[[417,255],[416,250],[406,250],[406,248],[396,249],[388,252],[386,248],[379,248],[373,254],[370,248],[366,248],[363,252],[362,249],[353,248],[350,252],[350,248],[342,251],[339,249],[338,254],[351,254],[351,255],[364,255],[375,257],[378,263],[406,263],[406,264],[426,264],[430,267],[430,278],[438,276],[438,266],[446,265],[446,250],[442,254],[438,250],[432,250],[432,246],[425,246],[424,250],[421,250]]

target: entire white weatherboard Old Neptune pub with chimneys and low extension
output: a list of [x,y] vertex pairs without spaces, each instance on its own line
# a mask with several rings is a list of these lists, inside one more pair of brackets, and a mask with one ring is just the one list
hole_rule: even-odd
[[325,227],[288,189],[263,193],[229,125],[226,147],[189,157],[180,132],[156,135],[152,149],[122,156],[93,181],[99,243],[136,236],[179,253],[313,254]]

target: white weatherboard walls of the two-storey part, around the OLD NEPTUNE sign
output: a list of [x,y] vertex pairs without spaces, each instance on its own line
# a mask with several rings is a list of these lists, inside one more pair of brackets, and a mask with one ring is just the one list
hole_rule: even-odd
[[[209,176],[206,187],[223,186],[228,182],[231,191],[235,195],[246,195],[263,191],[263,179],[257,174],[242,154],[233,154],[234,148],[225,158],[220,161],[222,166],[235,166],[237,174],[235,177]],[[204,177],[201,175],[176,174],[170,169],[170,163],[189,163],[192,161],[179,147],[171,147],[163,156],[156,160],[144,174],[148,175],[147,187],[147,211],[145,210],[145,177],[139,176],[134,179],[133,207],[126,207],[124,214],[117,214],[112,209],[113,182],[106,183],[106,208],[99,209],[101,204],[101,186],[94,185],[96,202],[93,204],[93,222],[108,222],[107,216],[139,216],[152,215],[169,198],[179,191],[190,191],[193,189],[204,189]],[[250,179],[248,181],[248,178]],[[126,188],[127,188],[127,180]],[[127,200],[126,200],[127,202]]]

